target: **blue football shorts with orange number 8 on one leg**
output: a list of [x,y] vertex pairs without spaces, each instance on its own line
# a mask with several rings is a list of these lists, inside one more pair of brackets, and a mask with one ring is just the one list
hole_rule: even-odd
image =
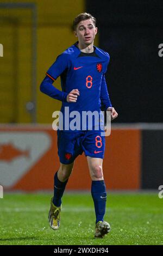
[[58,155],[61,163],[72,163],[78,155],[104,158],[105,136],[102,131],[57,131]]

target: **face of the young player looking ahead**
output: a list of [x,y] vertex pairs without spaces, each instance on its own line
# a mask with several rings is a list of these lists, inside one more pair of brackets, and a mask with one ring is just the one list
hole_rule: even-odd
[[97,28],[95,27],[93,21],[89,19],[80,21],[74,33],[78,37],[80,44],[90,45],[95,39]]

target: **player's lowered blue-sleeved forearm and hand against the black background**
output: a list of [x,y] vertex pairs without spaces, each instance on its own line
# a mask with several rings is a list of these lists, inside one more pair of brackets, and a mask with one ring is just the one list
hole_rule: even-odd
[[118,113],[116,112],[115,108],[112,107],[109,93],[108,93],[108,88],[106,85],[106,80],[105,80],[105,75],[103,74],[102,77],[102,83],[101,83],[101,95],[100,95],[101,101],[104,105],[105,111],[110,111],[111,112],[111,120],[115,119],[118,116]]

